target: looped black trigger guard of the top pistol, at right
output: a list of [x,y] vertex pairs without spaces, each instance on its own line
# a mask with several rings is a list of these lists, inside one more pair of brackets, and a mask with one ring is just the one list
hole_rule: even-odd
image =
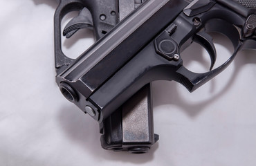
[[[192,92],[198,89],[200,86],[211,80],[213,77],[225,70],[231,62],[235,59],[239,50],[243,48],[243,41],[241,41],[241,34],[237,27],[244,26],[244,19],[238,15],[234,15],[226,10],[212,10],[201,17],[202,24],[204,24],[205,33],[221,33],[230,39],[234,47],[234,53],[230,58],[224,62],[221,66],[215,68],[212,71],[206,73],[194,73],[189,71],[184,66],[181,66],[176,72],[179,73],[180,77],[177,80],[183,84],[188,91]],[[201,37],[205,38],[206,37]],[[203,39],[203,40],[205,40]],[[207,40],[206,40],[207,41]],[[212,45],[209,42],[208,44]],[[248,43],[251,46],[252,43]],[[208,46],[209,47],[209,46]]]

